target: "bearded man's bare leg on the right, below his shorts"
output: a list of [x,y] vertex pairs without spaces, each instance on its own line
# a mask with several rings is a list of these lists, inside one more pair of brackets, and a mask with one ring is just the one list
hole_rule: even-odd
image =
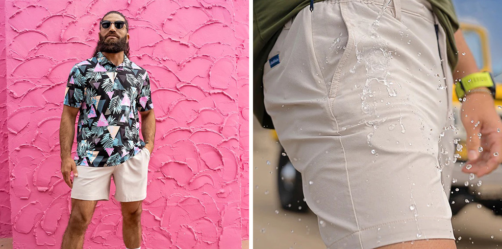
[[122,236],[128,248],[141,246],[141,212],[143,200],[120,202],[122,207]]

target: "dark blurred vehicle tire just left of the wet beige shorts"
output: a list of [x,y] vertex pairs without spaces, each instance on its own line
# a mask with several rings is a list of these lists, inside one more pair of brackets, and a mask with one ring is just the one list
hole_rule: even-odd
[[277,183],[281,206],[285,210],[306,212],[307,203],[304,200],[302,189],[302,176],[294,167],[288,156],[284,156],[282,149],[279,158]]

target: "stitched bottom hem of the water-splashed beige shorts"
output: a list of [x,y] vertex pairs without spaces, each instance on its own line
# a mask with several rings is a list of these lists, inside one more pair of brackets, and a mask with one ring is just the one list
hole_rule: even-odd
[[451,219],[426,217],[386,222],[353,232],[327,248],[370,249],[422,239],[455,239]]

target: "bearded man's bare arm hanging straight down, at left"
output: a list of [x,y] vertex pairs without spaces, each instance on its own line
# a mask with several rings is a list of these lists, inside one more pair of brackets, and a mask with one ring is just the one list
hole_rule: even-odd
[[77,166],[71,157],[71,147],[75,137],[75,119],[79,108],[63,105],[63,114],[61,115],[61,124],[59,125],[59,144],[61,147],[61,173],[66,184],[72,188],[73,182],[70,172],[73,171],[78,176]]

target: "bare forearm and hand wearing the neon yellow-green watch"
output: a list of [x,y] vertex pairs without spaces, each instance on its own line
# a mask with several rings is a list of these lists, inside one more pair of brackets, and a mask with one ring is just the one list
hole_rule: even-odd
[[[455,43],[458,64],[453,79],[458,80],[479,69],[460,29],[455,32]],[[477,177],[490,173],[502,163],[502,122],[495,111],[493,97],[483,92],[466,95],[461,120],[467,133],[468,157],[462,171],[474,173]]]

